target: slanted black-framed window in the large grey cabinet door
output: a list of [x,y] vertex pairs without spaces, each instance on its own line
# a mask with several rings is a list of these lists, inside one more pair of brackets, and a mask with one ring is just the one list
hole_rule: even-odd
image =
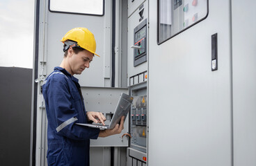
[[207,17],[209,0],[158,0],[157,42],[182,33]]

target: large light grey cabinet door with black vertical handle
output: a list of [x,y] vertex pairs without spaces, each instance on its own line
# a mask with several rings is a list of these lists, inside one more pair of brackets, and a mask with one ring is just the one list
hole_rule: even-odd
[[205,20],[160,45],[154,0],[149,24],[148,165],[232,165],[230,1],[209,1]]

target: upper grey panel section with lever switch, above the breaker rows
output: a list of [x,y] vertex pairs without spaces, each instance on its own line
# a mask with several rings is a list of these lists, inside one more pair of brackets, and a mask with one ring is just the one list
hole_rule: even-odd
[[[138,0],[139,1],[139,0]],[[134,1],[137,2],[138,1]],[[131,3],[135,5],[135,3]],[[136,86],[147,81],[148,4],[141,1],[128,17],[127,85]]]

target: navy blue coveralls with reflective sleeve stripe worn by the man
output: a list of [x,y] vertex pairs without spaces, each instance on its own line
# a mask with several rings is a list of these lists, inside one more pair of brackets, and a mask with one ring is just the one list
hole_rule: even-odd
[[42,86],[48,118],[48,165],[90,165],[90,139],[99,129],[79,126],[86,123],[86,109],[80,85],[64,68],[56,67]]

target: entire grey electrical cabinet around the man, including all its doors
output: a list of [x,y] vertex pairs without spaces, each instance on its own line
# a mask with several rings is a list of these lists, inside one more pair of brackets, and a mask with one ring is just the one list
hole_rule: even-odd
[[90,165],[256,165],[254,1],[102,1],[101,16],[51,12],[51,2],[35,1],[31,165],[47,165],[40,90],[74,27],[101,55],[77,75],[86,110],[107,124],[120,93],[134,97],[122,133],[91,140]]

